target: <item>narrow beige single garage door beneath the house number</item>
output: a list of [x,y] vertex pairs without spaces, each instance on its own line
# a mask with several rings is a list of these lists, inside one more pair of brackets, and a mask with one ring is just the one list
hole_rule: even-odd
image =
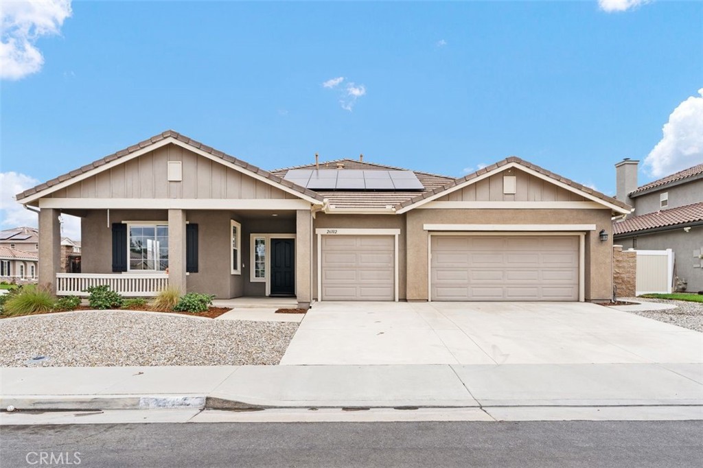
[[392,235],[323,235],[323,301],[394,300]]

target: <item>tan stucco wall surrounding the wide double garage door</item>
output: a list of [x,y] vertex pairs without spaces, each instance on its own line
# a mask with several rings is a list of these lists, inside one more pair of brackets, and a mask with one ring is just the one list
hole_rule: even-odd
[[[428,232],[423,224],[595,224],[586,233],[585,296],[587,301],[612,295],[612,224],[609,209],[415,209],[406,214],[407,299],[427,300]],[[605,229],[608,242],[598,239]]]

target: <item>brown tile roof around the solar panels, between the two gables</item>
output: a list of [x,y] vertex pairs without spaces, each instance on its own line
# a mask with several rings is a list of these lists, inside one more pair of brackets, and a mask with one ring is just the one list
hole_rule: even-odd
[[[320,169],[337,169],[338,165],[343,165],[340,171],[353,170],[353,169],[363,169],[366,171],[408,171],[409,169],[404,169],[402,167],[387,166],[385,164],[376,164],[373,162],[359,161],[359,160],[332,160],[320,162]],[[304,164],[302,166],[295,167],[284,167],[283,169],[275,169],[271,171],[280,177],[285,177],[285,174],[292,169],[315,169],[315,164]],[[440,176],[438,174],[429,174],[427,172],[413,171],[415,176],[418,178],[420,183],[423,184],[424,189],[421,191],[375,191],[366,192],[361,190],[315,190],[316,193],[326,198],[330,205],[334,205],[335,208],[385,208],[388,206],[396,206],[406,200],[411,200],[413,197],[418,196],[418,193],[423,193],[427,191],[434,190],[445,186],[447,183],[454,180],[453,177]]]

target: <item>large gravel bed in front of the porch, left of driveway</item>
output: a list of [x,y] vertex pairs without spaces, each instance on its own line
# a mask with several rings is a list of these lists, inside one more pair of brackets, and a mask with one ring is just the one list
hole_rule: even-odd
[[[0,320],[0,366],[276,365],[297,323],[79,311]],[[35,356],[48,359],[27,363]]]

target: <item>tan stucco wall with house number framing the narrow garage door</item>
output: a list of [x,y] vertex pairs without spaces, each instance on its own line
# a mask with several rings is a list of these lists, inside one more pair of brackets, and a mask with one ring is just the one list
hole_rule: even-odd
[[318,213],[313,221],[313,275],[312,275],[312,290],[313,297],[318,298],[317,291],[317,228],[352,228],[352,229],[400,229],[398,238],[398,268],[399,268],[399,299],[406,299],[406,215],[394,214],[367,214],[367,215],[350,215],[350,214],[323,214]]

